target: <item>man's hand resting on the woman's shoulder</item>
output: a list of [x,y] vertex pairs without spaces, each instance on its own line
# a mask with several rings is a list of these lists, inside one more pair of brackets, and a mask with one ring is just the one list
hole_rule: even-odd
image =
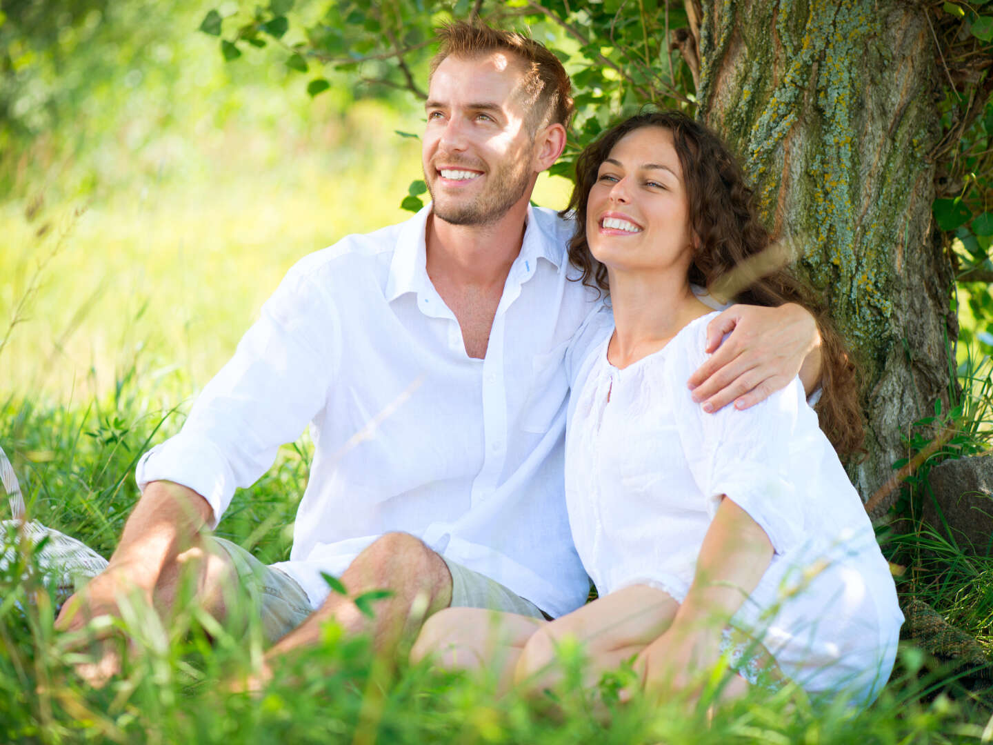
[[707,412],[732,401],[739,409],[753,406],[785,387],[801,367],[808,393],[820,378],[817,324],[794,303],[731,306],[707,326],[707,352],[713,356],[687,381]]

